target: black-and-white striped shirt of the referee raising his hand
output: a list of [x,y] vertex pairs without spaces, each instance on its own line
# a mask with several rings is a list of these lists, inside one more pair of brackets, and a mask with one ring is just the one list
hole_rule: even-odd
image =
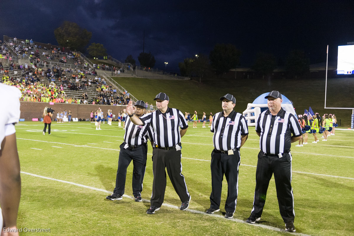
[[187,129],[188,123],[181,111],[167,107],[166,113],[157,110],[139,118],[144,124],[150,123],[155,144],[159,147],[172,147],[181,142],[179,127]]

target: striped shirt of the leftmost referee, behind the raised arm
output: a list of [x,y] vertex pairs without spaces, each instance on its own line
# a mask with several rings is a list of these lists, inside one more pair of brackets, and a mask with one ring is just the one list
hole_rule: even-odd
[[152,129],[149,125],[135,125],[130,121],[129,117],[127,118],[125,122],[124,142],[132,146],[137,146],[144,144],[148,139],[150,141],[153,140]]

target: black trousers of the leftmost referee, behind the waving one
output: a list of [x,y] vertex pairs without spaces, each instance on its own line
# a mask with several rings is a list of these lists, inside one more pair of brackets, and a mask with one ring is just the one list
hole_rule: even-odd
[[141,191],[143,191],[143,180],[146,169],[146,159],[148,146],[144,145],[130,149],[124,149],[124,144],[121,144],[119,151],[118,169],[117,176],[115,179],[115,188],[113,193],[118,193],[120,195],[124,194],[125,179],[127,176],[127,168],[131,161],[133,161],[133,179],[132,179],[132,189],[133,195],[141,196]]

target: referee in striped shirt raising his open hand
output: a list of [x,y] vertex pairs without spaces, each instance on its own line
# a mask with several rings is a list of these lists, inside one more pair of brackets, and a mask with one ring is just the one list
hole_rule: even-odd
[[140,118],[133,115],[134,107],[132,102],[129,102],[127,106],[127,113],[134,124],[150,124],[154,132],[153,192],[150,200],[151,206],[146,213],[154,214],[164,202],[166,189],[165,169],[167,169],[172,185],[181,199],[182,204],[179,209],[186,210],[189,207],[190,194],[182,175],[181,137],[187,131],[188,123],[181,111],[167,106],[169,104],[169,96],[165,93],[160,92],[154,100],[156,100],[158,110]]

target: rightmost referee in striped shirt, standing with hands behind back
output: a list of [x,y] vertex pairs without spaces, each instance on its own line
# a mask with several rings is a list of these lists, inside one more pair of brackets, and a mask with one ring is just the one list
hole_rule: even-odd
[[246,222],[254,224],[261,219],[269,181],[274,174],[276,196],[285,230],[295,232],[290,147],[292,142],[301,139],[301,127],[296,116],[281,108],[280,92],[272,91],[265,99],[268,100],[269,109],[259,114],[256,121],[261,151],[258,153],[253,209]]

